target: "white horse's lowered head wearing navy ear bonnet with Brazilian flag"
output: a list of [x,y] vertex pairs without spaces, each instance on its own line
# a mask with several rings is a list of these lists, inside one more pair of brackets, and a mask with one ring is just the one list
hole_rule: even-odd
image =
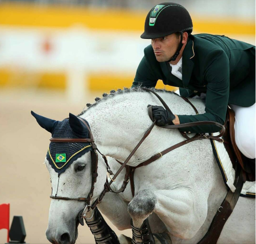
[[[79,221],[83,224],[79,213],[86,204],[89,204],[93,188],[92,174],[95,169],[95,151],[92,149],[91,143],[86,141],[86,138],[89,138],[89,125],[86,126],[85,120],[82,121],[81,118],[72,114],[69,114],[69,118],[63,121],[56,121],[34,112],[31,113],[38,124],[52,134],[45,158],[45,164],[51,177],[51,198],[53,198],[46,230],[47,239],[51,243],[75,243]],[[72,139],[66,142],[60,138]],[[75,141],[78,138],[84,138],[84,141]],[[104,160],[99,157],[99,164],[101,162],[104,164]],[[101,172],[101,170],[105,170],[105,172]],[[99,169],[99,173],[105,173],[105,175],[106,171],[106,167]],[[95,184],[94,198],[99,196],[102,190],[100,186],[103,186],[105,181],[106,178],[102,177]],[[89,201],[84,198],[89,198]]]

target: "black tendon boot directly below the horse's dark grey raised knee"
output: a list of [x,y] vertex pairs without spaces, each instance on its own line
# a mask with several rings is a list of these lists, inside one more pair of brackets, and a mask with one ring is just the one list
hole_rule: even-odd
[[[133,222],[131,219],[131,227],[132,244],[155,244],[155,239],[151,232],[148,218],[144,220],[140,229],[133,226]],[[135,238],[137,239],[137,241],[135,240]]]

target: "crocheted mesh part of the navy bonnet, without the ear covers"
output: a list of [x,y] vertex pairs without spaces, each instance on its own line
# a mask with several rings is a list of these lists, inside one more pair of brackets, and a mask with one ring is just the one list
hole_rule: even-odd
[[[84,120],[86,123],[87,121]],[[88,123],[87,123],[88,124]],[[52,134],[53,138],[89,138],[89,133],[83,135],[72,130],[69,125],[69,119],[60,121]],[[91,151],[89,142],[51,142],[46,155],[52,168],[60,175],[75,160],[83,154]]]

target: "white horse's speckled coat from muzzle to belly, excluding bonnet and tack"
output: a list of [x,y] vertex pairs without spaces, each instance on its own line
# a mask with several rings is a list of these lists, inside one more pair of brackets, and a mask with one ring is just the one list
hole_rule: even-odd
[[[193,108],[177,94],[166,91],[158,91],[158,94],[174,114],[194,114]],[[199,113],[204,113],[202,100],[190,101]],[[79,115],[88,121],[100,151],[112,158],[109,165],[113,172],[120,168],[116,160],[124,162],[151,125],[148,104],[161,106],[159,100],[149,92],[126,89],[105,96]],[[177,129],[155,126],[128,165],[137,166],[183,140]],[[52,195],[55,195],[58,174],[47,160],[45,163],[52,181]],[[78,165],[82,170],[74,170]],[[111,185],[113,189],[121,187],[124,171]],[[99,176],[92,202],[104,188],[106,173],[104,160],[99,157]],[[91,154],[85,153],[60,175],[58,195],[87,197],[91,180]],[[98,208],[119,230],[130,229],[131,218],[134,226],[141,228],[149,217],[152,232],[162,236],[168,234],[171,240],[167,240],[167,243],[173,244],[198,243],[227,195],[210,140],[207,139],[193,141],[136,169],[134,182],[134,198],[128,184],[123,193],[107,193],[97,205]],[[52,199],[46,231],[48,240],[52,243],[75,243],[77,215],[84,207],[84,202]],[[218,240],[218,244],[229,243],[255,243],[255,199],[238,199]]]

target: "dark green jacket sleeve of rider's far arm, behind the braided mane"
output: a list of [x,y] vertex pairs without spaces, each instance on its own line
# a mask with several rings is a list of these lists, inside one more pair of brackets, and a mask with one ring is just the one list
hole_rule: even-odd
[[145,51],[144,53],[145,55],[138,66],[134,81],[132,83],[132,87],[142,85],[151,88],[155,87],[157,83],[158,78],[156,77],[153,69],[150,66],[149,59],[147,58],[147,54]]

